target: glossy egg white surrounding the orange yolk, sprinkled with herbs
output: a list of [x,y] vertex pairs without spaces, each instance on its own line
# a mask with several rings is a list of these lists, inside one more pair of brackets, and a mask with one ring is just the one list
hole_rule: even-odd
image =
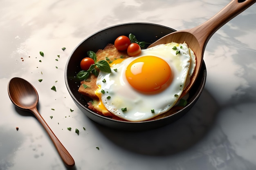
[[[177,50],[173,50],[173,46]],[[176,55],[176,51],[180,54]],[[147,95],[136,91],[126,79],[126,67],[130,62],[142,56],[156,56],[165,60],[172,69],[173,81],[164,91]],[[192,56],[192,57],[191,57]],[[189,83],[190,76],[195,69],[195,55],[186,43],[175,42],[160,44],[141,50],[140,55],[128,57],[119,64],[111,67],[112,73],[100,72],[97,78],[102,103],[111,113],[128,121],[144,121],[165,113],[172,108],[179,99],[184,86]],[[117,71],[114,71],[117,70]],[[106,82],[103,82],[103,79]],[[104,90],[104,94],[101,93]],[[126,108],[126,111],[122,111]],[[152,113],[151,110],[154,110]]]

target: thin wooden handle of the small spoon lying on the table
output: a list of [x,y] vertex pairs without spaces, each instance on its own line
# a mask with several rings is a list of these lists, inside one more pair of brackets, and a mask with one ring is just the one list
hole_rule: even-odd
[[75,165],[74,159],[72,158],[70,153],[66,150],[66,148],[61,144],[61,142],[58,140],[58,138],[54,135],[51,128],[49,128],[49,126],[47,125],[47,123],[45,122],[43,117],[38,112],[37,108],[34,107],[29,110],[36,116],[36,118],[38,119],[40,124],[42,124],[42,126],[45,128],[49,137],[52,139],[54,146],[56,147],[59,155],[61,156],[61,159],[63,160],[64,164],[67,167],[70,167],[70,168],[73,167]]

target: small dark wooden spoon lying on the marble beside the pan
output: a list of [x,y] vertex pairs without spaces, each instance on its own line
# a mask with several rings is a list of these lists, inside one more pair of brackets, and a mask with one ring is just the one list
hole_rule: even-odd
[[49,137],[52,139],[61,159],[67,167],[75,165],[74,159],[66,148],[61,144],[58,138],[49,128],[43,117],[38,112],[36,106],[38,104],[38,93],[36,88],[25,79],[14,77],[8,83],[8,94],[11,102],[22,110],[28,110],[33,113],[38,121],[43,125]]

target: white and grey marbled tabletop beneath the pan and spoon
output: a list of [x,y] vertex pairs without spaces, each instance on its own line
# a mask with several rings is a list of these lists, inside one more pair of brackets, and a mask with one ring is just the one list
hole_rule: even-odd
[[[100,29],[126,22],[188,29],[227,3],[1,0],[0,170],[66,169],[36,118],[11,103],[7,83],[12,77],[27,79],[36,87],[39,112],[73,156],[74,170],[255,170],[255,4],[210,39],[204,53],[205,89],[193,109],[173,124],[146,132],[103,128],[76,107],[64,82],[72,50]],[[53,85],[56,92],[51,90]]]

